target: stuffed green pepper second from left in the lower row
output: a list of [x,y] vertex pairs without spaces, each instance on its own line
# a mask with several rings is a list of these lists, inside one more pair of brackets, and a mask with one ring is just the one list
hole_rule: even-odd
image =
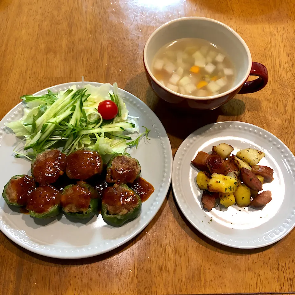
[[56,217],[60,213],[60,198],[60,191],[49,184],[44,184],[31,192],[26,209],[32,217]]

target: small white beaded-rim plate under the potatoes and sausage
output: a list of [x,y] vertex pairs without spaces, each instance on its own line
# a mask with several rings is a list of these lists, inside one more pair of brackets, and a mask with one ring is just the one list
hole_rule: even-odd
[[[262,210],[236,205],[222,211],[219,207],[210,212],[202,209],[198,170],[191,160],[198,151],[208,153],[222,142],[232,145],[234,154],[249,147],[265,153],[259,164],[274,170],[274,180],[263,185],[273,199]],[[181,211],[202,234],[230,247],[259,248],[285,237],[295,225],[294,173],[294,155],[273,134],[248,123],[220,122],[196,130],[180,145],[173,162],[172,187]]]

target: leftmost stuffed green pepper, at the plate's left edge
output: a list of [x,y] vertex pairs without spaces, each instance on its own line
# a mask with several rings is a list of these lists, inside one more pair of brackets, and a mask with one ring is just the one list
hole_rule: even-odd
[[28,175],[15,175],[6,183],[2,197],[8,205],[21,207],[28,202],[29,194],[36,187],[32,177]]

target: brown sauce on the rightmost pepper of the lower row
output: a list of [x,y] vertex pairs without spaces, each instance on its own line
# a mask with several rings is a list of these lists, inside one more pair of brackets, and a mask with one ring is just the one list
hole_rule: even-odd
[[114,184],[113,187],[108,187],[104,190],[102,202],[110,206],[134,207],[137,205],[138,199],[133,191],[120,187],[118,184]]

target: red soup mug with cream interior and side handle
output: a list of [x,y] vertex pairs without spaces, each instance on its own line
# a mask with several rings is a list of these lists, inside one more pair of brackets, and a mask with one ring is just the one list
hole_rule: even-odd
[[[191,96],[174,92],[156,80],[151,72],[158,50],[180,38],[201,38],[220,46],[229,55],[236,69],[236,77],[230,90],[212,96]],[[261,90],[268,81],[267,69],[258,62],[252,62],[251,53],[242,37],[211,18],[187,17],[165,23],[155,30],[144,46],[144,68],[151,88],[163,100],[179,107],[215,109],[229,101],[237,93],[253,93]],[[249,76],[258,76],[247,81]]]

